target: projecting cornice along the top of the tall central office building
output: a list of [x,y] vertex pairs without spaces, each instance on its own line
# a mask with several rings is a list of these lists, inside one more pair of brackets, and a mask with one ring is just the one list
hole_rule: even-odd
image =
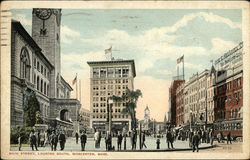
[[89,66],[130,64],[132,66],[132,70],[133,70],[133,77],[136,76],[134,60],[89,61],[87,63]]

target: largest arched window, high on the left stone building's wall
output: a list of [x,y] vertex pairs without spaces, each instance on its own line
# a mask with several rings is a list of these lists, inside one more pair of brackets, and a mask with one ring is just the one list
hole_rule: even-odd
[[23,47],[20,55],[20,78],[30,81],[30,58],[26,47]]

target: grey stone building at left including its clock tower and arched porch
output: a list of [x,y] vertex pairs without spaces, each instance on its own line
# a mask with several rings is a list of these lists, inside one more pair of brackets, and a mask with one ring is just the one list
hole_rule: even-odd
[[33,92],[45,124],[75,128],[81,104],[61,76],[60,21],[61,9],[33,9],[31,36],[12,20],[11,126],[24,125],[24,100]]

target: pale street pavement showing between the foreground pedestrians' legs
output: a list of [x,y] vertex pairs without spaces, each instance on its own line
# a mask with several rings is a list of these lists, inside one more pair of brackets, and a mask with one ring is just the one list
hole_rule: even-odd
[[[130,142],[130,138],[127,137],[126,140],[126,148],[127,150],[131,150],[131,142]],[[146,137],[146,141],[145,144],[147,146],[147,148],[143,148],[142,150],[156,150],[156,138],[153,137]],[[115,150],[117,150],[117,138],[114,137],[112,138],[112,145],[115,146]],[[202,143],[199,147],[209,147],[211,146],[210,144],[207,143]],[[189,147],[189,143],[188,141],[180,141],[177,140],[174,142],[174,148],[175,149],[188,149]],[[160,139],[160,150],[166,150],[168,149],[168,145],[166,143],[166,138],[161,138]],[[17,151],[18,147],[17,146],[12,146],[11,151]],[[28,145],[23,145],[21,151],[31,151],[31,147]],[[47,145],[46,147],[38,147],[39,151],[50,151],[51,148],[49,145]],[[57,144],[57,150],[60,150],[60,144]],[[124,141],[122,142],[122,150],[124,150]],[[137,147],[136,150],[139,150],[139,140],[137,140]],[[75,138],[69,137],[66,140],[66,144],[65,144],[65,149],[64,151],[81,151],[81,144],[80,144],[80,139],[78,141],[78,144],[76,144],[76,140]],[[95,142],[93,138],[88,138],[87,143],[86,143],[86,147],[85,147],[85,151],[97,151],[97,152],[105,152],[105,140],[104,138],[101,139],[101,145],[100,148],[96,149],[95,148]]]

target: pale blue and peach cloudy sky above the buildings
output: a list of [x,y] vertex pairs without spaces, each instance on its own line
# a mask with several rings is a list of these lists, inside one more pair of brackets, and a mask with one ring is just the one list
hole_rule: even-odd
[[[242,41],[241,14],[241,10],[230,9],[62,9],[61,74],[72,86],[77,73],[82,107],[89,109],[86,62],[109,60],[104,50],[112,46],[115,59],[135,60],[134,86],[143,94],[137,118],[144,118],[148,105],[151,118],[163,121],[172,77],[178,68],[182,74],[177,59],[184,55],[186,80],[210,69],[211,60]],[[12,10],[12,18],[31,34],[31,9]]]

